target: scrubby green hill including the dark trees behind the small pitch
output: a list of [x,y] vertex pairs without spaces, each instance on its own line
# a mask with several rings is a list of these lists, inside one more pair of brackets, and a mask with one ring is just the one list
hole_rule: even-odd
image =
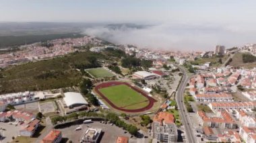
[[[28,62],[1,69],[0,94],[79,87],[82,76],[86,75],[84,69],[100,67],[102,60],[109,64],[113,64],[113,61],[121,61],[123,62],[122,66],[129,66],[130,68],[140,68],[140,66],[147,68],[152,64],[150,60],[140,60],[127,56],[122,50],[107,48],[96,53],[90,52],[86,48],[86,52],[74,52],[49,60]],[[125,62],[126,60],[128,62]],[[120,73],[117,67],[112,68],[115,69],[114,72]]]

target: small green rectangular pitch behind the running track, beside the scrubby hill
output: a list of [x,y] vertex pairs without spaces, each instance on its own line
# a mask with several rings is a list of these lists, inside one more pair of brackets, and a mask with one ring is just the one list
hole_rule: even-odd
[[105,68],[90,68],[86,69],[86,72],[90,73],[95,78],[113,77],[113,73],[110,73]]

